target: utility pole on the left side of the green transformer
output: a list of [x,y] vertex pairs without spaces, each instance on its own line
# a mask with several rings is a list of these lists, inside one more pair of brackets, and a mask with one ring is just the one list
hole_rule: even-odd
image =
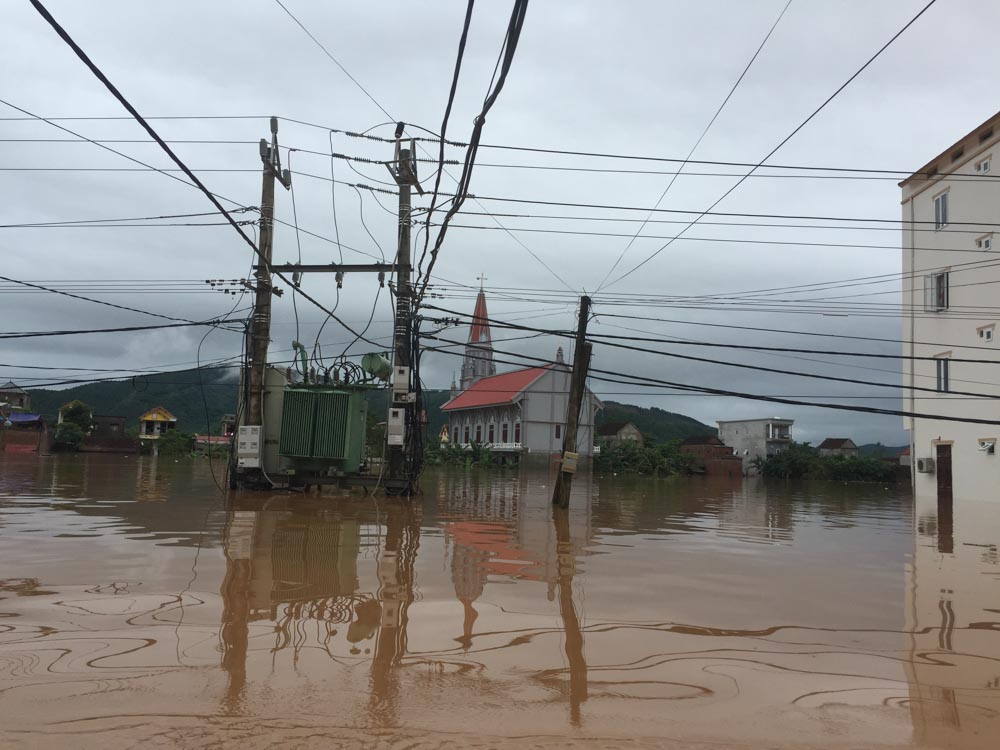
[[267,346],[271,339],[271,248],[274,228],[274,181],[281,182],[286,190],[291,187],[291,173],[281,171],[278,152],[278,118],[271,118],[271,143],[260,139],[260,159],[264,163],[263,186],[260,196],[260,239],[257,249],[256,298],[253,318],[250,321],[250,371],[247,373],[247,403],[244,425],[260,425],[263,420],[264,367],[267,365]]

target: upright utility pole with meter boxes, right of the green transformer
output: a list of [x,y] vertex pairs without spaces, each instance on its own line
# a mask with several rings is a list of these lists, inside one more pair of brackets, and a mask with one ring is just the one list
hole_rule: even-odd
[[396,159],[389,171],[399,186],[399,236],[396,249],[396,327],[393,331],[393,375],[392,401],[389,404],[389,418],[386,424],[386,446],[388,466],[385,488],[392,494],[408,495],[413,491],[412,465],[414,456],[407,451],[417,445],[413,430],[420,429],[420,404],[416,401],[413,388],[413,365],[410,347],[413,337],[413,289],[410,285],[410,192],[416,186],[417,163],[414,159],[413,142],[410,148],[401,148],[396,130]]

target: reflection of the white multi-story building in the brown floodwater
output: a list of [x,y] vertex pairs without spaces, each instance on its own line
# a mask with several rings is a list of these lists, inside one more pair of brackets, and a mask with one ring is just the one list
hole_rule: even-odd
[[933,747],[1000,746],[1000,509],[914,499],[907,570],[907,680],[914,739]]

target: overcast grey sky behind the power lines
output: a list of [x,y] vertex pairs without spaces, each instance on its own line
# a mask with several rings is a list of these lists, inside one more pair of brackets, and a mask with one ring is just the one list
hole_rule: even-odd
[[[431,130],[440,128],[455,51],[465,10],[462,2],[413,3],[304,2],[284,0],[289,10],[327,47],[341,65],[391,115],[387,117],[320,50],[273,0],[243,2],[77,3],[51,0],[48,7],[67,31],[105,71],[137,109],[148,116],[198,116],[190,120],[154,120],[168,140],[231,141],[178,143],[182,159],[215,192],[236,203],[260,203],[257,141],[267,135],[268,115],[282,120],[283,147],[330,152],[325,128],[362,131],[373,128],[389,137],[387,120],[403,120]],[[694,158],[750,162],[763,158],[860,65],[902,27],[924,0],[793,0],[760,56],[729,101]],[[513,68],[484,128],[483,142],[542,148],[611,152],[681,159],[690,151],[785,5],[785,0],[669,2],[542,2],[528,9]],[[4,45],[0,47],[0,98],[44,117],[121,117],[126,113],[55,35],[28,2],[7,0]],[[449,136],[464,140],[482,105],[509,15],[506,2],[477,4],[469,36]],[[976,41],[976,29],[1000,23],[1000,5],[986,0],[942,0],[935,4],[870,68],[784,146],[769,163],[826,167],[861,167],[904,172],[920,168],[996,110],[996,61],[990,44]],[[254,115],[252,119],[229,119]],[[226,119],[207,119],[225,116]],[[0,105],[0,117],[23,117]],[[145,139],[129,120],[61,122],[93,139]],[[377,127],[380,126],[380,127]],[[409,132],[420,134],[419,130]],[[68,139],[68,143],[24,142]],[[203,195],[152,171],[135,169],[121,156],[80,141],[38,120],[0,121],[0,224],[85,219],[150,217],[210,211]],[[374,159],[391,158],[392,146],[332,135],[333,150]],[[108,144],[136,159],[169,168],[166,156],[150,143]],[[425,144],[426,154],[433,151]],[[463,152],[450,149],[451,159]],[[330,240],[339,229],[347,262],[367,262],[355,251],[391,259],[395,243],[395,198],[337,185],[331,194],[331,160],[322,155],[291,154],[296,175],[295,201],[303,261],[338,260]],[[282,159],[288,166],[289,153]],[[472,191],[483,197],[652,207],[671,179],[669,162],[607,160],[482,149]],[[577,169],[633,170],[632,173],[510,168],[509,165]],[[499,165],[499,166],[490,166]],[[506,166],[504,166],[506,165]],[[378,186],[388,174],[382,166],[332,164],[336,179]],[[431,187],[431,164],[420,164]],[[212,171],[245,170],[245,171]],[[635,173],[636,170],[652,173]],[[688,165],[688,171],[739,173],[738,167]],[[449,167],[457,176],[458,167]],[[767,174],[775,174],[774,171]],[[787,173],[785,173],[787,174]],[[797,173],[801,175],[802,173]],[[897,219],[899,189],[895,179],[751,177],[715,210],[732,213],[785,214]],[[312,176],[310,176],[312,175]],[[881,176],[892,178],[893,175]],[[738,178],[683,175],[661,208],[701,211]],[[446,191],[454,180],[445,177]],[[382,205],[379,205],[381,203]],[[336,206],[336,226],[334,222]],[[416,206],[427,199],[417,198]],[[706,310],[704,303],[664,306],[664,297],[733,295],[751,290],[814,284],[900,271],[898,231],[733,227],[707,222],[752,219],[705,217],[627,278],[596,292],[645,217],[642,211],[541,206],[482,200],[465,210],[500,214],[576,218],[500,216],[519,240],[486,215],[456,217],[435,268],[436,283],[476,286],[487,277],[492,316],[540,326],[574,325],[575,297],[594,293],[598,318],[592,331],[702,341],[800,348],[896,353],[893,343],[819,338],[814,333],[842,333],[898,339],[901,323],[881,317]],[[374,237],[369,236],[361,217]],[[279,188],[276,216],[293,221],[291,195]],[[594,221],[598,217],[630,221]],[[245,217],[238,217],[245,218]],[[661,213],[658,220],[690,220],[690,214]],[[213,217],[182,219],[218,221]],[[761,221],[757,223],[774,223]],[[779,223],[808,224],[803,221]],[[816,222],[830,226],[831,222]],[[841,224],[840,222],[833,222]],[[465,228],[471,226],[482,229]],[[650,223],[622,259],[621,273],[660,248],[683,223]],[[890,225],[891,226],[891,225]],[[461,227],[461,228],[460,228]],[[601,232],[560,234],[524,230]],[[622,236],[606,236],[606,235]],[[420,238],[422,239],[422,237]],[[728,241],[722,241],[728,240]],[[733,242],[732,240],[741,240]],[[755,240],[756,242],[745,242]],[[774,242],[879,245],[816,247]],[[152,293],[149,283],[192,282],[245,276],[250,250],[231,227],[3,228],[2,273],[48,286],[81,281],[137,280],[124,285],[142,291],[82,294],[162,314],[204,319],[227,312],[232,298],[219,293]],[[522,244],[523,243],[523,244]],[[529,252],[530,250],[530,252]],[[279,227],[276,262],[298,257],[294,230]],[[552,271],[532,257],[538,256]],[[447,280],[445,282],[444,280]],[[145,286],[144,286],[145,285]],[[279,283],[279,286],[281,284]],[[202,286],[204,286],[202,284]],[[333,279],[311,276],[304,288],[327,306],[337,303]],[[32,292],[11,293],[0,284],[0,326],[4,331],[110,327],[155,324],[157,319],[80,300]],[[79,288],[79,287],[78,287]],[[363,327],[372,309],[377,282],[349,276],[340,294],[338,315]],[[471,313],[471,293],[457,296],[453,287],[435,300],[449,309]],[[551,290],[547,293],[511,289]],[[837,304],[899,302],[899,282],[847,287],[830,292],[782,293],[775,299],[818,298],[864,292],[877,296],[836,300]],[[656,301],[622,296],[658,297]],[[272,358],[286,358],[296,337],[291,294],[276,300]],[[614,297],[612,299],[611,297]],[[628,301],[629,306],[618,304]],[[614,303],[614,304],[613,304]],[[779,303],[785,304],[785,303]],[[744,306],[745,307],[745,306]],[[887,308],[886,308],[887,309]],[[888,313],[892,313],[888,310]],[[311,344],[323,314],[308,303],[298,305],[299,338]],[[631,315],[661,320],[612,318]],[[383,291],[368,336],[390,332],[388,294]],[[692,321],[801,331],[801,335],[710,328]],[[617,326],[617,327],[616,327]],[[622,330],[622,326],[633,330]],[[32,378],[61,378],[68,373],[23,366],[178,369],[193,363],[200,329],[142,334],[87,335],[0,342],[0,380],[30,386]],[[467,329],[445,334],[455,339]],[[494,331],[497,348],[529,356],[551,357],[560,341],[552,337],[499,343],[511,336]],[[324,353],[336,355],[351,336],[330,323],[321,341]],[[339,345],[339,346],[338,346]],[[202,352],[214,360],[238,353],[240,336],[214,332]],[[368,351],[360,345],[356,352]],[[892,360],[858,360],[820,355],[778,356],[701,347],[659,348],[759,364],[781,370],[834,374],[898,383]],[[500,358],[510,358],[498,355]],[[807,357],[809,359],[802,359]],[[822,360],[817,362],[815,360]],[[830,364],[836,362],[837,364]],[[428,354],[427,387],[447,387],[460,360]],[[840,403],[900,408],[890,389],[685,362],[598,346],[593,367],[697,385],[783,396],[824,396]],[[872,370],[870,368],[877,368]],[[500,369],[509,366],[500,365]],[[79,374],[79,373],[76,373]],[[656,405],[708,423],[781,415],[796,420],[796,437],[817,442],[828,435],[857,442],[902,444],[902,420],[804,407],[763,404],[702,395],[639,392],[628,386],[592,383],[602,397]],[[621,391],[636,391],[622,394]],[[848,399],[847,396],[864,396]],[[873,399],[872,396],[888,396]]]

